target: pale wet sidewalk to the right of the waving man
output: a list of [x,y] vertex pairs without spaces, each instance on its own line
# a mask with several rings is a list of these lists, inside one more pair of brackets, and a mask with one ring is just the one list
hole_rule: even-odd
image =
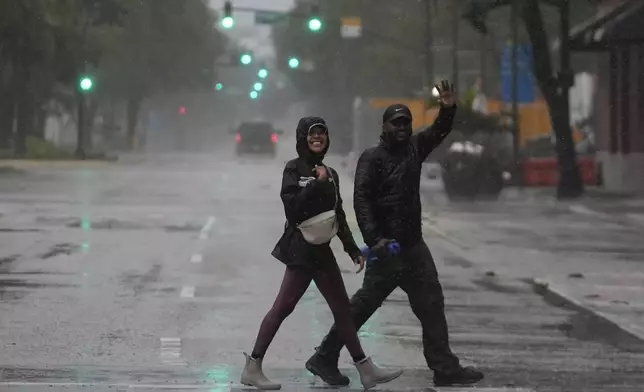
[[443,238],[475,267],[529,281],[546,300],[600,322],[620,345],[644,349],[644,226],[547,206],[460,208],[426,214],[430,242]]

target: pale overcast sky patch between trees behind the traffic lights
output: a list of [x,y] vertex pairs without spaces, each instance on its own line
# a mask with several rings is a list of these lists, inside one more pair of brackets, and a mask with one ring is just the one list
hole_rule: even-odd
[[[255,52],[257,57],[272,56],[270,27],[256,26],[252,12],[235,12],[235,7],[288,11],[293,7],[295,0],[233,0],[232,3],[235,27],[228,32],[229,35],[240,42],[242,46]],[[210,0],[210,5],[221,13],[224,8],[224,0]]]

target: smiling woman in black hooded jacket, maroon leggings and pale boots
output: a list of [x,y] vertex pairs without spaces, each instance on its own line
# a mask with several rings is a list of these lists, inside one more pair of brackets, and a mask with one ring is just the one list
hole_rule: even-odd
[[[241,382],[258,389],[280,389],[262,371],[262,359],[282,322],[288,317],[311,281],[329,304],[335,323],[360,373],[365,388],[391,381],[402,371],[378,368],[362,351],[358,334],[349,310],[349,297],[329,242],[314,245],[304,238],[300,224],[318,214],[333,211],[337,220],[337,236],[354,263],[364,266],[364,258],[353,240],[342,208],[338,173],[322,163],[329,149],[326,122],[320,117],[300,119],[296,130],[298,157],[284,168],[280,196],[286,213],[284,234],[272,255],[286,265],[280,291],[275,303],[262,321],[255,346]],[[300,227],[298,227],[300,226]],[[360,270],[358,272],[360,272]],[[309,369],[311,370],[311,369]]]

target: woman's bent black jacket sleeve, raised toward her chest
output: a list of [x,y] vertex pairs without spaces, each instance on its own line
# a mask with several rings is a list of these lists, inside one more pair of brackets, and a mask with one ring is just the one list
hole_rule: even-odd
[[289,224],[297,226],[310,218],[311,203],[319,195],[320,188],[332,187],[328,181],[313,180],[306,187],[299,185],[300,175],[294,164],[287,164],[282,175],[282,190],[280,197],[284,204],[286,220]]

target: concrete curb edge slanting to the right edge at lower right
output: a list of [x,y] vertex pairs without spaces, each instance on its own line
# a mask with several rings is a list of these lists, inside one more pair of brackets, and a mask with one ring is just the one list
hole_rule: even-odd
[[534,291],[557,306],[566,307],[579,312],[593,321],[610,329],[615,337],[625,346],[644,351],[644,331],[628,321],[583,304],[567,293],[563,287],[549,282],[546,279],[533,278],[531,280]]

